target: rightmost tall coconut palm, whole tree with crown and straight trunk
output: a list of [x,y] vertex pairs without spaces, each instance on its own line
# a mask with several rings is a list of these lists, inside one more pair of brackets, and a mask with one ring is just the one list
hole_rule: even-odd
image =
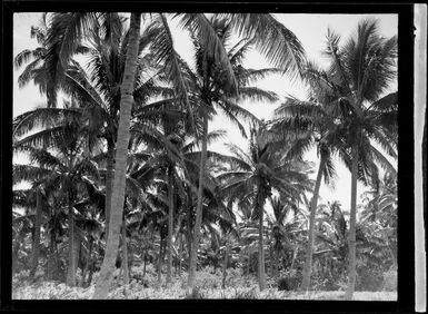
[[339,151],[351,170],[351,206],[349,233],[349,269],[346,298],[352,298],[356,282],[356,213],[357,179],[377,185],[374,160],[392,168],[374,146],[397,158],[397,92],[386,96],[396,77],[397,37],[382,38],[376,20],[362,20],[355,37],[340,46],[340,36],[329,30],[326,55],[328,71],[337,90],[337,107],[341,108],[339,126],[345,149]]

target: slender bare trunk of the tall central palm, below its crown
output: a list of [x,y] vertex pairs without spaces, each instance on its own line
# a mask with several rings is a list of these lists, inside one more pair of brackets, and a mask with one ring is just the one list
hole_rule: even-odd
[[193,227],[193,241],[190,252],[190,269],[188,277],[188,292],[192,292],[195,288],[197,258],[198,258],[198,246],[200,228],[202,224],[202,188],[205,177],[205,164],[207,159],[207,134],[208,134],[208,117],[203,116],[203,131],[202,131],[202,154],[199,164],[199,187],[198,187],[198,204],[196,208],[196,222]]

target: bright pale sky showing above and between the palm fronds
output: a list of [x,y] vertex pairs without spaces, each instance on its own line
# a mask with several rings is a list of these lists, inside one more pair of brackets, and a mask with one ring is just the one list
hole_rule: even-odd
[[[37,26],[41,13],[16,13],[13,18],[13,57],[17,56],[23,49],[36,48],[36,39],[30,38],[31,26]],[[361,19],[375,18],[379,21],[379,33],[384,37],[392,37],[398,32],[398,16],[397,14],[275,14],[278,21],[283,23],[289,30],[291,30],[303,46],[309,60],[316,61],[320,66],[326,66],[327,60],[322,57],[321,51],[325,48],[325,39],[327,29],[331,28],[338,32],[342,38],[342,43],[356,31],[357,24]],[[177,22],[172,20],[170,28],[175,38],[176,50],[186,60],[191,58],[191,43],[188,40],[187,35],[182,33],[177,27]],[[261,57],[257,51],[248,53],[245,60],[245,67],[247,68],[269,68],[269,63]],[[31,110],[32,108],[43,104],[43,97],[40,96],[38,88],[30,84],[24,88],[18,88],[18,76],[22,72],[22,69],[16,69],[13,73],[13,117]],[[275,75],[270,78],[265,79],[257,84],[258,87],[275,91],[280,97],[286,95],[292,95],[300,99],[306,98],[307,90],[299,82],[291,82],[287,77]],[[391,86],[391,91],[397,88],[397,85]],[[262,119],[270,119],[275,108],[280,105],[278,104],[243,104],[242,106],[252,112],[256,117]],[[227,138],[222,141],[211,145],[209,149],[217,150],[222,154],[228,154],[225,143],[235,143],[238,146],[246,148],[247,143],[241,137],[237,127],[232,126],[223,116],[218,115],[209,126],[210,130],[226,129],[228,131]],[[309,151],[306,156],[308,161],[315,163],[315,169],[318,168],[319,160],[316,156],[315,149]],[[22,159],[21,159],[22,160]],[[13,160],[20,163],[20,160]],[[344,210],[349,210],[350,206],[350,173],[341,165],[338,160],[337,167],[337,179],[335,187],[328,187],[321,185],[320,188],[320,203],[339,200],[342,205]],[[316,170],[311,175],[315,179]],[[366,192],[361,184],[358,184],[358,195]],[[361,196],[357,198],[361,200]]]

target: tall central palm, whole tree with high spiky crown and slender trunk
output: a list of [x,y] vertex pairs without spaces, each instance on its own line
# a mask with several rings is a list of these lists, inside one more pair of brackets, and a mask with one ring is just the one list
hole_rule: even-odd
[[[227,20],[211,17],[209,19],[210,24],[216,30],[216,37],[222,46],[227,46],[231,36],[232,29],[227,24]],[[230,84],[228,79],[228,70],[221,68],[216,63],[216,59],[212,56],[212,51],[205,46],[205,37],[198,31],[191,33],[193,45],[196,47],[196,72],[192,72],[187,67],[188,76],[191,78],[190,91],[195,92],[190,99],[199,105],[199,112],[202,120],[202,155],[200,160],[200,174],[199,174],[199,188],[198,188],[198,203],[195,223],[195,233],[192,239],[192,255],[191,265],[188,279],[188,288],[192,290],[195,285],[195,272],[196,272],[196,252],[199,243],[199,229],[202,219],[202,189],[203,189],[203,166],[207,158],[207,139],[208,121],[212,116],[213,108],[220,109],[226,116],[235,122],[243,136],[246,136],[245,128],[237,119],[245,118],[248,120],[257,121],[249,111],[239,106],[242,99],[257,99],[266,101],[277,100],[277,96],[272,92],[261,90],[256,87],[251,87],[250,84],[260,79],[271,72],[278,71],[276,69],[243,69],[241,60],[245,57],[248,49],[253,45],[251,40],[241,40],[227,52],[227,60],[232,69],[233,82]],[[225,60],[223,60],[225,62]],[[236,96],[236,89],[239,94],[239,98],[232,98]],[[237,101],[238,100],[238,101]]]

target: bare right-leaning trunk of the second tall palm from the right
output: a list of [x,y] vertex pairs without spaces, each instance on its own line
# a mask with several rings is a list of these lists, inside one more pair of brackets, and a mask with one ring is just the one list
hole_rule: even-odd
[[303,266],[303,281],[301,290],[307,292],[310,287],[310,275],[312,268],[312,253],[313,253],[313,235],[315,235],[315,216],[317,213],[319,188],[321,187],[322,170],[326,166],[326,158],[321,156],[321,160],[318,167],[317,181],[315,184],[313,196],[310,202],[310,214],[309,214],[309,239],[306,248],[306,261]]

